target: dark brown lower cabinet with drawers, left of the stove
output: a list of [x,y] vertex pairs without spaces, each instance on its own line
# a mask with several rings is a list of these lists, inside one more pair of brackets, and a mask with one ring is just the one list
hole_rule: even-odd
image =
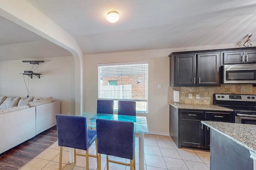
[[178,148],[210,150],[210,128],[201,123],[203,120],[234,123],[234,112],[188,110],[170,106],[170,137]]

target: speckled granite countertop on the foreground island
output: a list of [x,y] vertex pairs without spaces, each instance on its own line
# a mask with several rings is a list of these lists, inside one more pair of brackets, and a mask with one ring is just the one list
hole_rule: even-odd
[[256,125],[216,121],[202,121],[202,123],[256,153]]

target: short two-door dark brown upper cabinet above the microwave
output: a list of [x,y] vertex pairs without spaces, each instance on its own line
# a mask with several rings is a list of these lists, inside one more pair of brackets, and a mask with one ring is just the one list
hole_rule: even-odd
[[256,50],[238,50],[222,52],[223,64],[256,63]]

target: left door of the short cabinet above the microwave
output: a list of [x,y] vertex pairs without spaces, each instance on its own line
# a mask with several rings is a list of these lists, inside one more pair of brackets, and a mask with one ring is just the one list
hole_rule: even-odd
[[223,53],[223,64],[243,64],[244,51],[226,51]]

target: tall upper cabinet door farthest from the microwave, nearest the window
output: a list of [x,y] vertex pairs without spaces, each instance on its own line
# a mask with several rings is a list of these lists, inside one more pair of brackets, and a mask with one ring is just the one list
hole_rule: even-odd
[[174,86],[196,85],[196,55],[176,55]]

